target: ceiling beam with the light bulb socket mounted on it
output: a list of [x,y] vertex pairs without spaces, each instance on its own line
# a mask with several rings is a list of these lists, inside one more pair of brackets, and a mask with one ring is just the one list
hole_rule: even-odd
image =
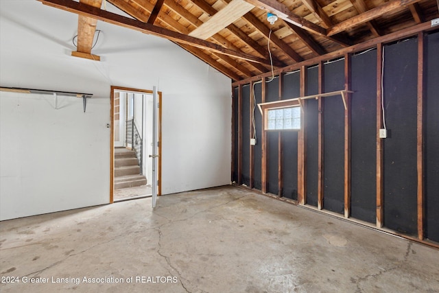
[[314,34],[318,34],[320,36],[326,36],[327,30],[324,27],[320,27],[311,21],[307,21],[306,19],[297,16],[296,14],[289,11],[287,5],[280,3],[276,0],[246,0],[248,3],[252,3],[257,8],[261,8],[262,10],[266,10],[268,12],[272,12],[276,14],[279,18],[297,25],[298,27],[302,27],[304,30],[308,30],[309,32],[313,32]]

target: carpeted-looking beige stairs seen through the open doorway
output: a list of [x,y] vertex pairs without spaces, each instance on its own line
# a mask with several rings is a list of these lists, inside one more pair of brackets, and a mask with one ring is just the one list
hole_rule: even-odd
[[134,150],[115,148],[115,189],[146,185]]

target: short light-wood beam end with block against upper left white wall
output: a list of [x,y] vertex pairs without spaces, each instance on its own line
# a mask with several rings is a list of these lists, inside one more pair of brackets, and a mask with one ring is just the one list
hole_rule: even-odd
[[[95,8],[100,8],[102,5],[102,0],[80,0],[80,2]],[[96,24],[96,19],[78,15],[78,44],[76,51],[72,51],[72,56],[92,60],[100,59],[99,56],[91,56],[93,40],[95,39]]]

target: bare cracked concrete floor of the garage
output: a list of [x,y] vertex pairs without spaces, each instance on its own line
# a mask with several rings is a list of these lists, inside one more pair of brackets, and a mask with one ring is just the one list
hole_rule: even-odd
[[143,198],[9,220],[0,232],[1,292],[439,292],[438,250],[237,187],[161,196],[154,211]]

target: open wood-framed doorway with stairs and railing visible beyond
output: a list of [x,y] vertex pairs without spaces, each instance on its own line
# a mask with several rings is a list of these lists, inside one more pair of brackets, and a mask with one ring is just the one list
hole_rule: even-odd
[[[152,170],[153,91],[111,87],[110,202],[151,196],[156,184],[161,194],[161,143],[157,143],[158,166]],[[161,92],[157,93],[161,105]],[[156,119],[161,141],[161,108]],[[154,178],[154,176],[156,178]]]

